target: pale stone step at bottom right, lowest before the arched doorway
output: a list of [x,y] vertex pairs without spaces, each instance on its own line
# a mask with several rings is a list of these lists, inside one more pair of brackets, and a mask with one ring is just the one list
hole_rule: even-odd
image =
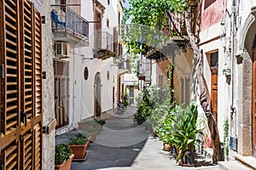
[[218,161],[218,169],[221,170],[250,170],[251,168],[246,167],[238,161]]

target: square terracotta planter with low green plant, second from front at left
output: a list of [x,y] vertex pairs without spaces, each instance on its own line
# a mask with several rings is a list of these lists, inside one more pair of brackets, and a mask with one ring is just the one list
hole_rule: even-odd
[[87,156],[87,149],[90,146],[90,139],[86,139],[81,133],[69,139],[69,147],[73,151],[73,161],[84,161]]

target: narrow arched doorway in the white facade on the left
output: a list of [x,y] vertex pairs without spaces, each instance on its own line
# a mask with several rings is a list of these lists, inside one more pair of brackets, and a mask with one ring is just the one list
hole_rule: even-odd
[[97,72],[94,80],[94,116],[102,116],[102,78]]

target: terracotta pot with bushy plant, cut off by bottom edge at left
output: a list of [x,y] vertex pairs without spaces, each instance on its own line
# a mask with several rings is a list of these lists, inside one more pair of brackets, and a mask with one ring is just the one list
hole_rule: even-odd
[[55,146],[55,170],[68,170],[73,160],[72,150],[67,144],[57,144]]

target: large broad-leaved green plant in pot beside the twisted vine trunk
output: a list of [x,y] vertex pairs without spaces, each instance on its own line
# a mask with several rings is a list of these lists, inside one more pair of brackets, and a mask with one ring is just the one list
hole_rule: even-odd
[[172,143],[177,146],[177,161],[182,166],[195,166],[196,135],[202,132],[197,123],[197,106],[192,103],[186,109],[177,105],[172,119]]

